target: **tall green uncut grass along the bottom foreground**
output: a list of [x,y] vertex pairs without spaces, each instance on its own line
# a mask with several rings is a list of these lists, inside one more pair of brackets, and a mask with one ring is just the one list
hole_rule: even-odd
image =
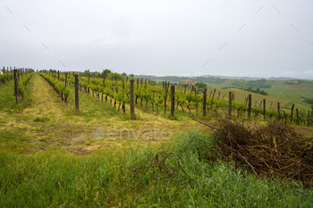
[[[2,151],[0,207],[312,207],[312,188],[208,162],[212,142],[191,131],[165,146],[89,156],[56,147],[28,156]],[[161,152],[174,155],[164,163],[173,176],[151,168]]]

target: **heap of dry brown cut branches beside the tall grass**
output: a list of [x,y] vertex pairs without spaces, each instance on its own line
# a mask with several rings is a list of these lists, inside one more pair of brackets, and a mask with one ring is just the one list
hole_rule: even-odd
[[300,180],[313,185],[313,137],[304,137],[291,126],[270,122],[247,127],[238,121],[220,120],[216,149],[227,160],[256,175]]

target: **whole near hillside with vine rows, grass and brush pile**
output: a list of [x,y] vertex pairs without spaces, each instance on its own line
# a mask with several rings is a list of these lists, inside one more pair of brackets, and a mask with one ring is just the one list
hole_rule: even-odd
[[0,207],[310,207],[307,112],[238,92],[6,70]]

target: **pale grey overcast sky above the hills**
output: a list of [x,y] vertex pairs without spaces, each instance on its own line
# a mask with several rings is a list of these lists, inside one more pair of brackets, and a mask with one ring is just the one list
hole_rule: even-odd
[[313,79],[311,0],[0,0],[0,67]]

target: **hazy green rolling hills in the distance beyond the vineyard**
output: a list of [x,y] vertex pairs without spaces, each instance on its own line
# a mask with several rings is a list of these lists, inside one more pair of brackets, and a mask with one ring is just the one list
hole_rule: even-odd
[[[313,97],[313,81],[293,78],[250,78],[250,77],[226,77],[226,76],[211,76],[205,75],[201,77],[178,77],[164,76],[157,77],[152,75],[135,76],[140,79],[151,79],[159,81],[169,81],[172,84],[178,84],[179,81],[197,81],[207,84],[209,90],[216,89],[218,92],[223,92],[223,96],[227,96],[229,90],[236,90],[237,99],[244,99],[250,92],[241,90],[243,88],[252,88],[254,90],[264,91],[268,96],[266,100],[273,103],[280,102],[285,107],[296,104],[299,109],[305,111],[310,110],[310,104],[304,103],[305,98]],[[290,80],[297,81],[296,84]],[[234,88],[236,87],[236,88]],[[239,89],[241,88],[241,89]],[[258,95],[258,96],[257,96]],[[263,96],[262,96],[263,97]],[[271,100],[269,100],[271,97]],[[261,99],[261,95],[256,94],[254,99]],[[269,103],[268,103],[269,104]]]

